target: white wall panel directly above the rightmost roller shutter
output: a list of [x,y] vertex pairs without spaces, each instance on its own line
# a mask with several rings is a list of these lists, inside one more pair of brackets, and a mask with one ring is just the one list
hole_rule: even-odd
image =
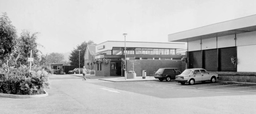
[[218,48],[236,46],[235,34],[218,37]]

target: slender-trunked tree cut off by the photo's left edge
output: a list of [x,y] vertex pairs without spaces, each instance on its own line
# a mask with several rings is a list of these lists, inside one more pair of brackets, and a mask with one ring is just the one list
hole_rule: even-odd
[[7,70],[9,74],[9,55],[14,50],[16,44],[16,29],[12,25],[12,21],[7,16],[7,13],[3,13],[0,17],[0,59],[7,64]]

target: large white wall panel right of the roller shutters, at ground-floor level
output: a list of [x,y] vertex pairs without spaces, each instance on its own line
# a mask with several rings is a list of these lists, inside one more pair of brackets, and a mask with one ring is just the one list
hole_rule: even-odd
[[256,44],[237,47],[237,72],[256,72]]

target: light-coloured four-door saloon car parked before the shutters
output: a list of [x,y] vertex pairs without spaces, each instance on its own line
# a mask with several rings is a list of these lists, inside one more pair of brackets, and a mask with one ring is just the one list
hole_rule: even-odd
[[198,68],[184,70],[180,75],[176,76],[175,81],[181,84],[185,84],[186,82],[188,82],[189,85],[193,85],[196,81],[211,81],[212,83],[215,83],[216,79],[218,78],[218,74],[209,73],[204,69]]

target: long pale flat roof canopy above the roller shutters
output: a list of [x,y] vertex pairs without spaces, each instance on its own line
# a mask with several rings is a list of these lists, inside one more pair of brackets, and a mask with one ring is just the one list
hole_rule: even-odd
[[256,15],[233,19],[168,35],[169,42],[191,42],[231,34],[256,31]]

